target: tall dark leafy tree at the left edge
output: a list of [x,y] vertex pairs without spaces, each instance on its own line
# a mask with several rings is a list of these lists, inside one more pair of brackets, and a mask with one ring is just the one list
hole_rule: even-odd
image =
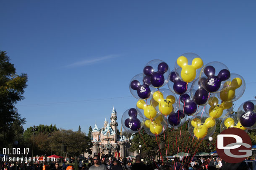
[[24,99],[24,89],[26,88],[28,77],[22,73],[18,75],[16,69],[5,51],[0,51],[0,149],[13,143],[10,136],[11,126],[18,121],[22,125],[26,121],[18,114],[18,109],[14,106],[18,101]]

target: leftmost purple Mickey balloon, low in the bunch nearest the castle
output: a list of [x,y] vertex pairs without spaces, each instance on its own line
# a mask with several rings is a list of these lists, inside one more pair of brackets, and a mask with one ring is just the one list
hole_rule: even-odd
[[137,118],[137,110],[134,108],[129,109],[130,118],[125,119],[125,126],[132,131],[138,131],[141,128],[141,121]]

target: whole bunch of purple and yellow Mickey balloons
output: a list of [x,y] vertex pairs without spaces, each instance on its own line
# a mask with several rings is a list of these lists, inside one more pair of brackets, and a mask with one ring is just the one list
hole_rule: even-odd
[[[243,95],[246,83],[225,64],[214,61],[204,65],[198,55],[185,53],[177,58],[172,71],[162,60],[149,61],[141,70],[129,84],[138,101],[136,109],[123,114],[122,125],[128,132],[143,127],[148,134],[158,135],[167,126],[182,126],[187,119],[188,131],[197,139],[214,133],[216,119],[222,120],[221,130],[256,129],[256,101],[243,103],[233,116],[233,102]],[[168,89],[159,89],[166,84]]]

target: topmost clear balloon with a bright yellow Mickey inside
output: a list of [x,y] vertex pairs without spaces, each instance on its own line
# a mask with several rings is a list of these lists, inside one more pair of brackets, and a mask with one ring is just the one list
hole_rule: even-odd
[[182,54],[175,63],[175,73],[183,81],[189,83],[199,77],[203,60],[195,53]]

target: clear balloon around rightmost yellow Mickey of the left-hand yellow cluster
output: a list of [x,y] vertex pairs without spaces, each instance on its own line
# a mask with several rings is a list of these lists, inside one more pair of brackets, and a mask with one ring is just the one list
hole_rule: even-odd
[[153,94],[153,99],[158,103],[155,109],[157,112],[167,116],[178,108],[177,97],[169,89],[159,89]]

